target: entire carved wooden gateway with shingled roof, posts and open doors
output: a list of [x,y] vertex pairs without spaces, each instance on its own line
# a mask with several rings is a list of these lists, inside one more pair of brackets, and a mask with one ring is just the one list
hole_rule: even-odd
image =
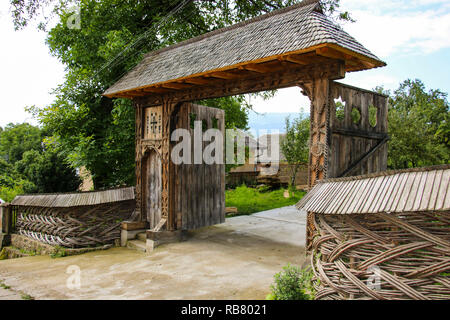
[[[223,221],[219,210],[224,208],[224,197],[217,194],[223,193],[221,167],[204,167],[197,174],[179,178],[180,171],[170,158],[171,134],[182,125],[175,120],[177,114],[186,114],[184,109],[193,108],[191,102],[202,99],[298,86],[311,100],[310,185],[336,172],[345,174],[346,166],[353,174],[385,169],[386,97],[334,81],[344,78],[346,72],[385,65],[328,19],[318,0],[305,0],[149,52],[104,92],[110,98],[132,99],[136,109],[136,208],[141,221],[148,222],[155,232]],[[351,125],[345,120],[331,131],[336,94],[349,101],[346,115],[352,108],[360,109],[362,122]],[[378,108],[376,129],[366,126],[370,104]],[[152,125],[157,125],[158,135],[148,136]],[[345,140],[336,139],[338,135],[356,135],[350,139],[352,149],[346,143],[338,144]],[[340,159],[339,170],[329,170],[336,159]],[[197,169],[181,170],[184,175]],[[199,189],[187,192],[191,184]],[[209,191],[200,192],[202,188]],[[152,202],[155,194],[157,199]],[[202,196],[197,199],[199,194]],[[198,208],[212,208],[212,204],[217,211],[200,213]],[[214,218],[206,219],[207,215]]]

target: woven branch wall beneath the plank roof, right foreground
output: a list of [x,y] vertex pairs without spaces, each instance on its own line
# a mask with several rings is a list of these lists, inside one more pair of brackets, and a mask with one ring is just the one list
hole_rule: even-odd
[[450,299],[450,212],[316,214],[317,299]]

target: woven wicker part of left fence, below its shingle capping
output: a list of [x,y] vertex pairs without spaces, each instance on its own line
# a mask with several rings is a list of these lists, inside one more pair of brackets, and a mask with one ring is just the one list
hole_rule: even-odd
[[130,217],[134,200],[68,208],[14,206],[16,233],[68,248],[95,247],[120,238],[120,224]]

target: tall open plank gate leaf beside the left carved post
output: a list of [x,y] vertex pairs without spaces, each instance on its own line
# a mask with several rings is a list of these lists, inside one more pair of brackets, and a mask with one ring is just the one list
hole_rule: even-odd
[[[176,127],[188,129],[191,144],[191,164],[174,165],[174,211],[177,229],[190,230],[225,222],[225,165],[195,164],[195,130],[197,122],[203,135],[208,129],[219,130],[225,138],[225,113],[221,109],[184,103],[176,116]],[[198,139],[197,139],[198,140]],[[205,150],[209,142],[202,141]]]

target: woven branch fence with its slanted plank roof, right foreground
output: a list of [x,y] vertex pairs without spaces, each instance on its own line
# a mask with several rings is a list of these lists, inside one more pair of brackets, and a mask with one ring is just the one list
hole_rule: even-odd
[[316,298],[450,298],[450,165],[319,181],[297,207]]

